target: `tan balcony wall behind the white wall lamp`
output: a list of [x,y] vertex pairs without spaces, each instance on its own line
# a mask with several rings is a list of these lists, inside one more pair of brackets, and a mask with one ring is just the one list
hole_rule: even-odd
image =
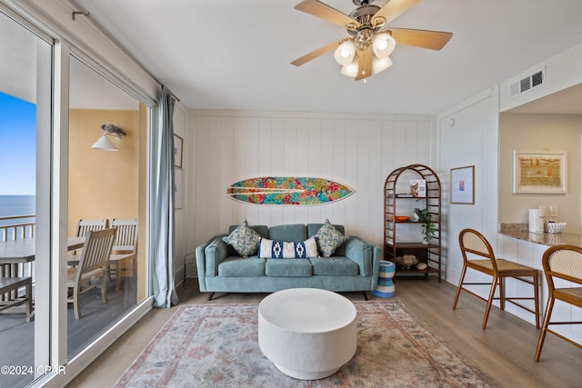
[[[138,214],[138,111],[70,111],[68,233],[79,218],[133,219]],[[119,151],[91,149],[103,134],[102,124],[115,124],[127,136],[114,142]]]

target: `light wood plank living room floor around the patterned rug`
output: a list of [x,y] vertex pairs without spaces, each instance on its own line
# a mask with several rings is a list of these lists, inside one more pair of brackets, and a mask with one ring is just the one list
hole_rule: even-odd
[[[198,292],[196,279],[188,279],[178,288],[178,295],[180,303],[259,303],[266,294],[217,293],[216,299],[208,302],[207,294]],[[354,301],[363,300],[361,293],[344,295]],[[369,293],[368,297],[376,299]],[[432,276],[396,281],[395,299],[405,303],[437,335],[500,385],[512,388],[582,386],[582,350],[547,334],[541,359],[536,363],[534,353],[539,331],[535,326],[494,307],[487,330],[481,330],[485,303],[461,293],[457,310],[453,311],[454,297],[455,286],[444,281],[439,284]],[[175,311],[176,307],[147,313],[67,386],[112,386]]]

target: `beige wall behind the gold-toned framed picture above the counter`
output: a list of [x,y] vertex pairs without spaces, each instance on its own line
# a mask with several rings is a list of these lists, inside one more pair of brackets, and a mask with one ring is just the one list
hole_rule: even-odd
[[[527,224],[527,209],[555,204],[566,232],[582,233],[581,139],[582,115],[500,114],[499,223]],[[512,194],[514,150],[567,151],[567,194]]]

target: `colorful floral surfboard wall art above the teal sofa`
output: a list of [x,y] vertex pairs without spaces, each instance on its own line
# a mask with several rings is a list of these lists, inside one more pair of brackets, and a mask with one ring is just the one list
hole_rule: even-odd
[[231,184],[226,195],[245,204],[329,204],[347,198],[354,190],[323,178],[263,176]]

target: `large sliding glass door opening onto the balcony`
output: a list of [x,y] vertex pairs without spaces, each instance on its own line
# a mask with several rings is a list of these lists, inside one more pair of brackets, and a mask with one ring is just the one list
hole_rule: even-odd
[[[155,104],[140,100],[147,99],[111,68],[0,4],[0,387],[78,372],[115,340],[116,323],[149,307],[146,193]],[[97,146],[102,138],[116,151]],[[134,232],[116,240],[109,256],[107,300],[98,290],[83,293],[75,316],[72,281],[85,236],[74,246],[67,237],[75,237],[80,220]],[[30,281],[32,291],[6,288],[15,278]],[[30,314],[18,303],[26,300]]]

